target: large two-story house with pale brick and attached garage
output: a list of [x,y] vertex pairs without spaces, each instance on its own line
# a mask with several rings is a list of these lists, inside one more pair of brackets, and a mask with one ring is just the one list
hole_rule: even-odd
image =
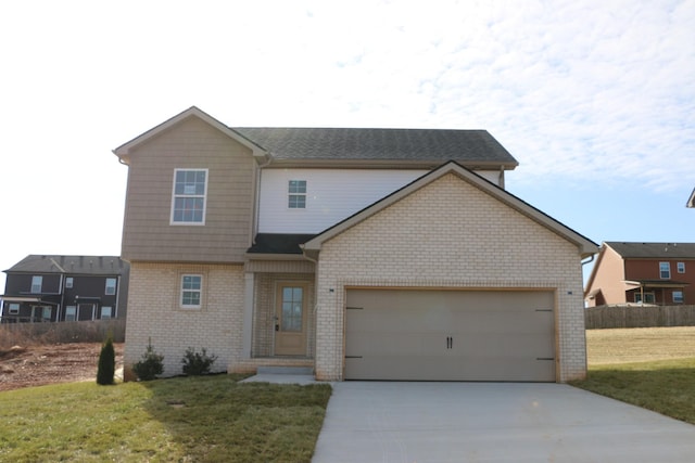
[[128,166],[125,362],[151,339],[217,370],[566,382],[586,372],[597,245],[504,189],[484,130],[232,128],[197,107]]

